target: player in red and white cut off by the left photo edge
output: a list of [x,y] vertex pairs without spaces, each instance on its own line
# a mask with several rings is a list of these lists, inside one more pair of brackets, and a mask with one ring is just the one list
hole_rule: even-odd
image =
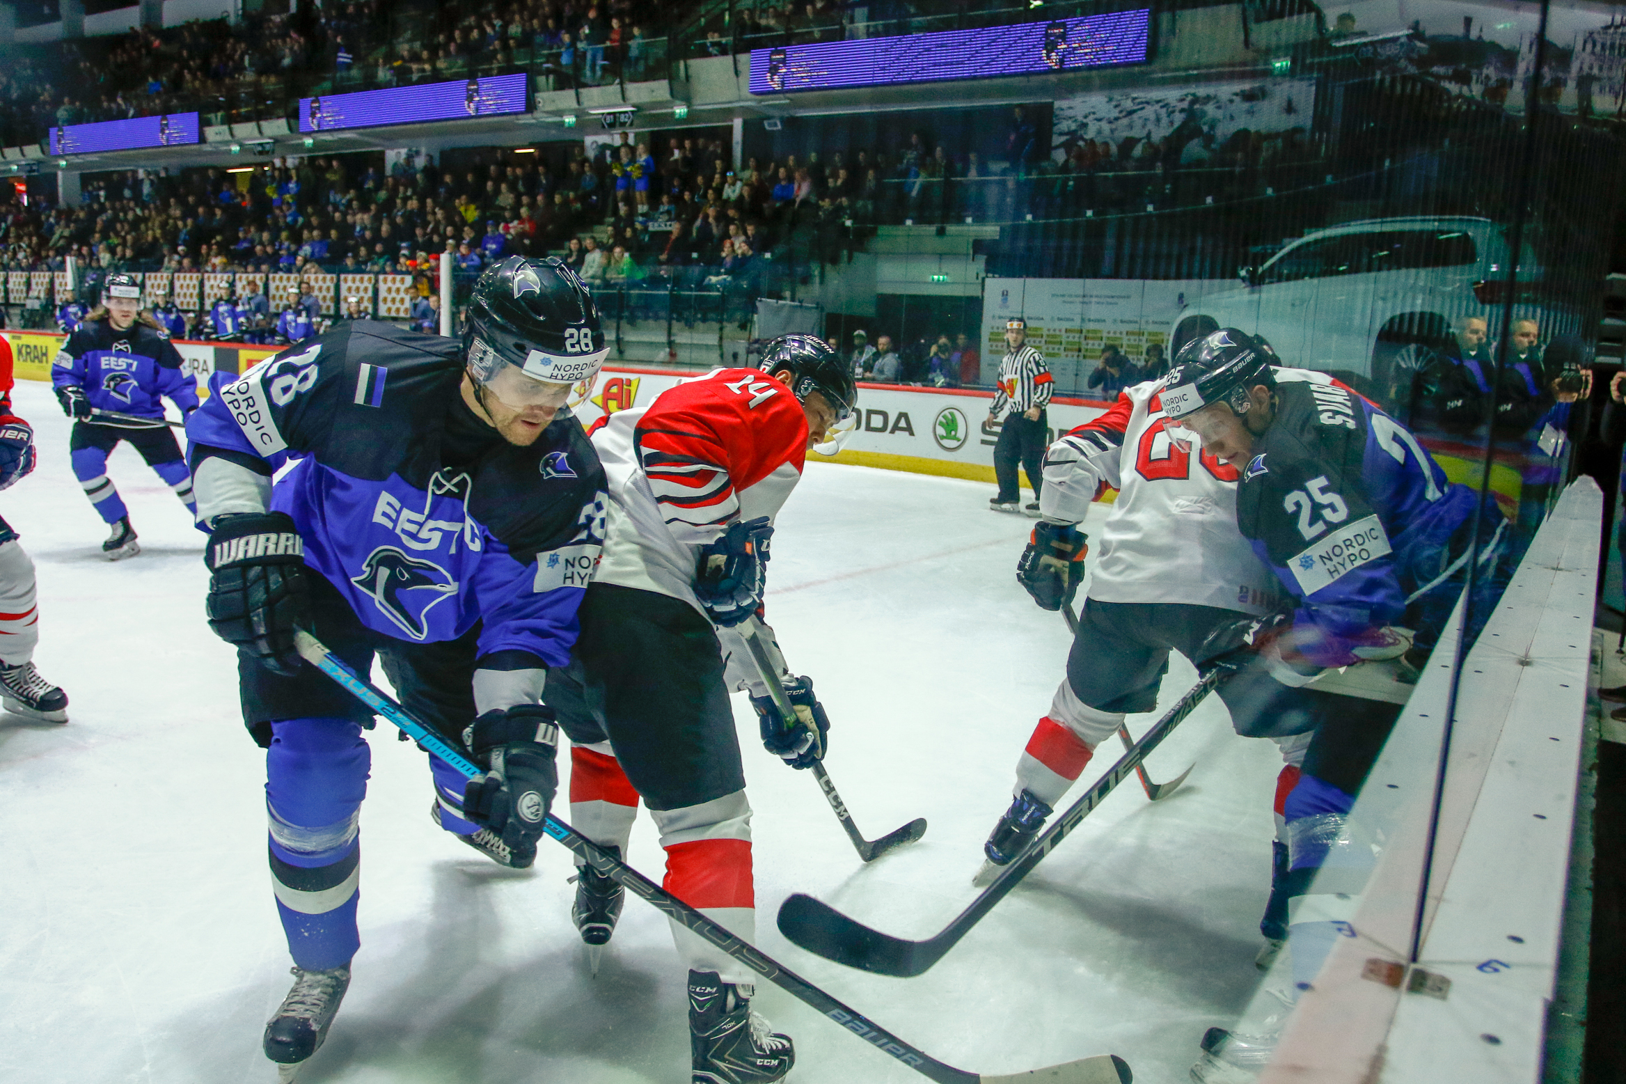
[[[34,431],[11,413],[11,343],[0,338],[0,489],[34,470]],[[0,520],[0,704],[23,718],[68,722],[68,694],[34,670],[39,606],[34,562],[16,530]]]

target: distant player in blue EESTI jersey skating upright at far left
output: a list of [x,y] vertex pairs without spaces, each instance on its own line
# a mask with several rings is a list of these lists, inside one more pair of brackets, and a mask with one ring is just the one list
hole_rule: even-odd
[[[107,276],[102,304],[62,345],[50,382],[62,413],[73,419],[68,437],[73,476],[112,527],[102,543],[109,561],[141,553],[130,512],[107,478],[107,455],[120,440],[128,440],[187,510],[197,512],[185,458],[163,421],[164,398],[180,408],[182,418],[198,408],[197,380],[182,367],[180,354],[153,315],[141,312],[141,288],[133,275]],[[127,418],[98,418],[96,411]]]

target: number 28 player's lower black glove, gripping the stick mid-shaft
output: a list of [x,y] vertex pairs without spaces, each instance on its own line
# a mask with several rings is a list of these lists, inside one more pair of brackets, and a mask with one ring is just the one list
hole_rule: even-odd
[[486,712],[463,731],[463,744],[486,769],[463,787],[463,816],[501,835],[515,866],[528,866],[559,790],[553,709],[517,704]]

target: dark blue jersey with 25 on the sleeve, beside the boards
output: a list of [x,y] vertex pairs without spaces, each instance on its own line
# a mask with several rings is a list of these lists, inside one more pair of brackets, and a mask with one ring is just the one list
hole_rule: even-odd
[[1276,418],[1242,468],[1237,527],[1299,600],[1294,629],[1319,634],[1301,635],[1299,650],[1345,666],[1353,640],[1398,622],[1460,567],[1459,528],[1478,499],[1408,429],[1325,374],[1278,369],[1276,395]]

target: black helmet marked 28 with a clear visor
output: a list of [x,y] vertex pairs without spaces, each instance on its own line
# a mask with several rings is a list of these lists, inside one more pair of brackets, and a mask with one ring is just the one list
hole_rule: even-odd
[[[598,306],[564,260],[512,255],[475,281],[463,359],[483,385],[512,382],[515,374],[506,369],[530,382],[580,384],[598,375],[608,353]],[[515,405],[512,398],[504,401]]]

